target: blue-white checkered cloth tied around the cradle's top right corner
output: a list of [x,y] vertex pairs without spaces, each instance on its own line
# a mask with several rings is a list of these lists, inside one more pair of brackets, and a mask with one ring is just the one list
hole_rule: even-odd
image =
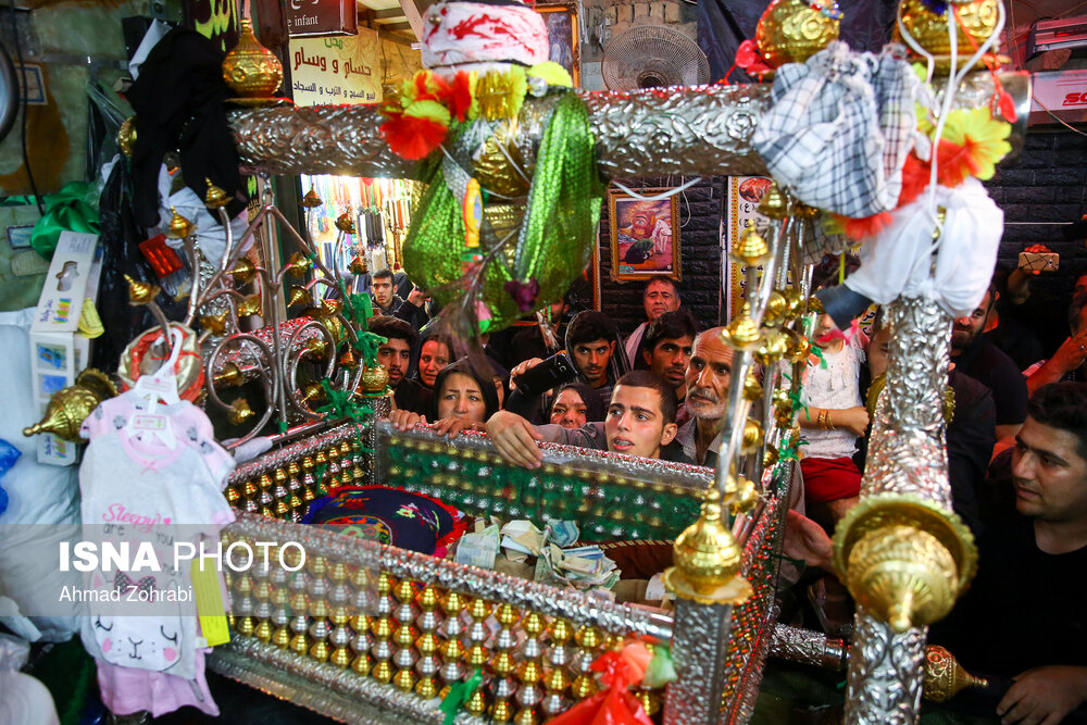
[[920,86],[899,48],[874,55],[836,41],[777,70],[752,142],[801,201],[844,216],[898,203]]

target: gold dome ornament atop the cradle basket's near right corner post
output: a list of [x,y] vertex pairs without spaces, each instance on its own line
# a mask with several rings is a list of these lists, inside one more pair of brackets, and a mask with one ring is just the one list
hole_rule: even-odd
[[721,521],[721,492],[711,486],[698,521],[672,548],[675,566],[664,572],[664,585],[677,597],[702,604],[739,604],[751,585],[739,576],[741,551]]

